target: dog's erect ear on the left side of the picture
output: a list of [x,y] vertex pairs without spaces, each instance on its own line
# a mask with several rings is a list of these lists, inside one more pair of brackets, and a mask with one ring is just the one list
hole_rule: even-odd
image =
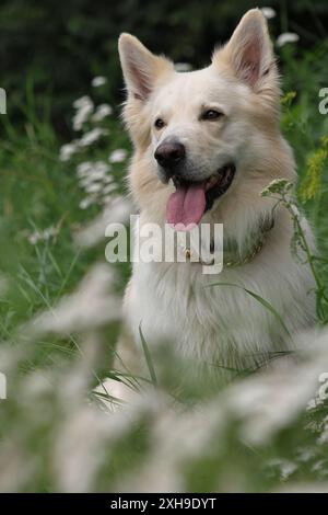
[[172,62],[152,54],[131,34],[121,34],[118,52],[128,92],[145,101],[153,90],[155,80],[164,72],[173,70]]

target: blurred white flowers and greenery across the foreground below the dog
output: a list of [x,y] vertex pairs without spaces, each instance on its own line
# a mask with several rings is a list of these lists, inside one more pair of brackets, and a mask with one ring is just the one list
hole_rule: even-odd
[[[114,393],[110,384],[105,381],[103,391],[99,386],[92,396],[94,365],[87,360],[99,343],[90,339],[91,330],[120,316],[108,302],[114,279],[108,272],[108,266],[94,268],[77,294],[55,308],[56,317],[49,311],[38,317],[30,345],[0,347],[2,370],[15,377],[15,388],[1,404],[0,490],[251,492],[260,474],[266,491],[282,489],[282,484],[289,491],[286,481],[292,481],[291,490],[300,489],[302,479],[297,484],[295,474],[307,467],[316,481],[307,488],[327,491],[324,416],[317,415],[321,438],[309,447],[307,433],[300,447],[306,404],[315,396],[318,377],[328,370],[327,331],[298,339],[304,350],[297,362],[278,359],[210,400],[177,403],[165,384],[157,388],[145,384],[132,402],[109,411],[102,399]],[[84,334],[84,359],[78,355],[60,366],[22,374],[14,357],[17,347],[31,357],[33,347],[39,345],[34,343],[38,332],[49,331]],[[26,335],[25,328],[25,341]],[[179,360],[175,365],[184,369]],[[108,375],[116,377],[114,370]],[[130,377],[127,374],[126,379]],[[295,431],[297,453],[292,453]],[[289,432],[292,440],[288,440]],[[288,457],[274,450],[285,448]],[[274,470],[279,480],[272,478]]]

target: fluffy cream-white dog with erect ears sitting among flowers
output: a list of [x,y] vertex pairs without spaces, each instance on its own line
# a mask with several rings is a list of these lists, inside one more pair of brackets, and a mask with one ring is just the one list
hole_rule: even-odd
[[272,215],[273,201],[260,195],[273,179],[295,180],[279,127],[279,77],[267,22],[259,10],[247,12],[212,64],[197,71],[175,71],[129,34],[119,38],[119,55],[140,228],[223,224],[232,253],[216,276],[190,261],[134,263],[125,298],[129,331],[137,342],[141,324],[150,347],[171,341],[195,362],[256,366],[289,348],[284,329],[243,288],[208,285],[254,291],[291,333],[315,316],[309,268],[291,254],[290,215],[284,208]]

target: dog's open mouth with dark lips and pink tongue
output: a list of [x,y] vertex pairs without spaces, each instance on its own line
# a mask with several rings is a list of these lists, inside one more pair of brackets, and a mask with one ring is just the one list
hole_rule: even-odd
[[189,182],[174,175],[176,191],[167,202],[167,222],[176,230],[186,230],[199,224],[203,214],[213,207],[214,201],[230,188],[235,171],[234,163],[229,163],[202,182]]

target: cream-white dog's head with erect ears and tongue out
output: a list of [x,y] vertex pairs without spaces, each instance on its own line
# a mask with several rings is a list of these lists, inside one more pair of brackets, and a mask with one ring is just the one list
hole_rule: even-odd
[[[120,36],[119,54],[128,90],[125,119],[139,161],[132,173],[142,174],[139,185],[152,184],[162,194],[159,185],[168,183],[169,222],[198,222],[221,197],[237,194],[246,176],[263,186],[276,176],[283,152],[279,80],[259,10],[245,14],[201,70],[177,72],[129,34]],[[276,164],[261,181],[272,145]]]

